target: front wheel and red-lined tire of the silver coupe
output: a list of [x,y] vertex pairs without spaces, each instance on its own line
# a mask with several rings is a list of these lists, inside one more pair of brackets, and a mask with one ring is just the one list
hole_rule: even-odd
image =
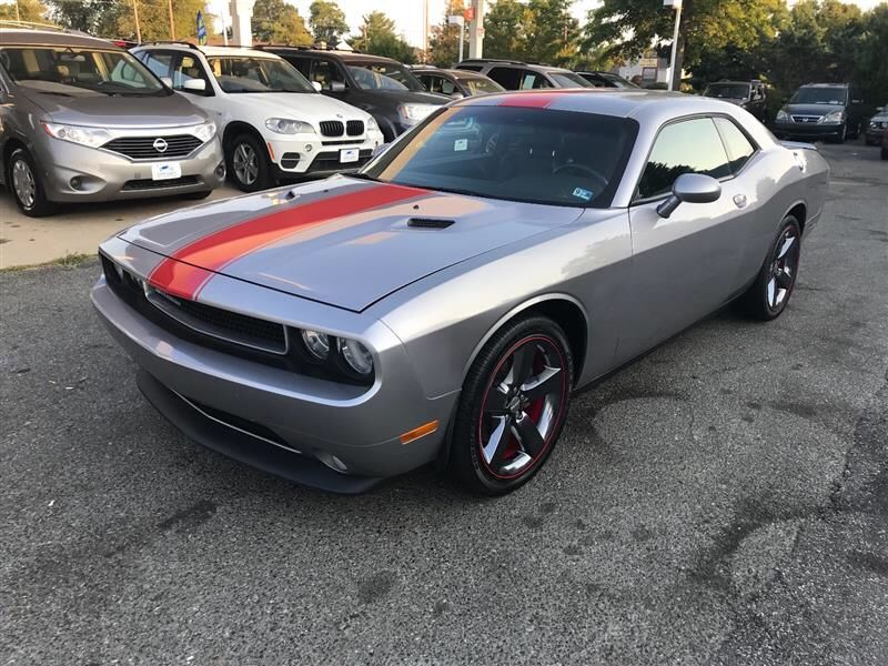
[[548,458],[571,403],[574,357],[562,329],[528,316],[496,333],[463,384],[451,453],[472,491],[503,495]]

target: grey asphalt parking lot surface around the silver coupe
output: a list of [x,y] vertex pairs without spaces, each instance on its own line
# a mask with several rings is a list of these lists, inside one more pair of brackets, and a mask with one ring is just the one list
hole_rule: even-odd
[[498,500],[208,452],[139,394],[94,261],[0,273],[0,663],[887,663],[888,167],[823,150],[786,313],[578,395]]

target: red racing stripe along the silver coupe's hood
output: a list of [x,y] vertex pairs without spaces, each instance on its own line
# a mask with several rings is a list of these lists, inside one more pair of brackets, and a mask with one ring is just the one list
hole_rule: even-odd
[[415,188],[374,184],[302,205],[287,205],[268,215],[228,226],[176,250],[154,268],[148,281],[167,293],[193,301],[215,273],[260,248],[306,228],[424,194],[425,190]]

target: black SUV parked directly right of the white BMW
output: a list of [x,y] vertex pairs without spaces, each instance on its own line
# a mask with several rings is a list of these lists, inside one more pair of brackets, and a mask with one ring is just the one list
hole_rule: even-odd
[[391,58],[297,47],[263,50],[280,56],[306,79],[316,81],[324,94],[373,115],[386,142],[451,101],[426,91],[407,68]]

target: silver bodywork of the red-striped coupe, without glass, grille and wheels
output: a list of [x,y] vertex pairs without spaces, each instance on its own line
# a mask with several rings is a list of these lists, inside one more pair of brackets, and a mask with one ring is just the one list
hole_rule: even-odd
[[[294,446],[335,452],[355,474],[387,476],[434,458],[474,357],[516,314],[551,301],[574,309],[585,327],[578,387],[740,293],[788,212],[804,210],[805,233],[820,216],[829,172],[823,157],[781,145],[734,104],[649,92],[548,94],[549,108],[639,123],[610,208],[340,176],[155,218],[102,245],[128,271],[173,293],[183,289],[184,297],[365,343],[376,367],[372,387],[260,370],[185,343],[140,321],[104,280],[93,302],[121,344],[172,391],[271,424]],[[734,119],[758,151],[723,180],[718,201],[685,203],[663,219],[662,199],[633,201],[638,179],[659,129],[700,114]],[[350,203],[341,210],[336,201]],[[454,223],[411,229],[405,218],[414,215]],[[436,432],[400,443],[401,433],[432,420],[441,423]]]

